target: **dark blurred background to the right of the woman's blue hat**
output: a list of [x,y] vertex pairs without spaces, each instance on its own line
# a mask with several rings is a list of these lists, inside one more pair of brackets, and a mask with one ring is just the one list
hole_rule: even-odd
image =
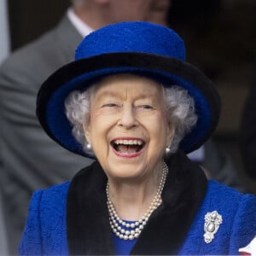
[[169,15],[170,26],[187,45],[188,61],[207,73],[222,98],[214,141],[230,153],[242,182],[254,194],[256,183],[243,172],[238,131],[255,76],[255,11],[255,0],[177,0]]

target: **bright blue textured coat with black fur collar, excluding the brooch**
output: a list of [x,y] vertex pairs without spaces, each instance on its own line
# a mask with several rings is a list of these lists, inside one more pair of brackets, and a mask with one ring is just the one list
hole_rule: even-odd
[[[207,181],[183,154],[167,165],[163,204],[151,215],[131,254],[239,254],[256,235],[256,198]],[[106,181],[95,163],[71,183],[35,192],[20,254],[114,254]],[[207,243],[205,216],[213,211],[222,216],[222,224]]]

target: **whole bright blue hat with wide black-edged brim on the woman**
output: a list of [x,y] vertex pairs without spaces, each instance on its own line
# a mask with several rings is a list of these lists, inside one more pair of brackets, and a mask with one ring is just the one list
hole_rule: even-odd
[[198,121],[181,141],[185,153],[199,148],[218,125],[220,99],[210,79],[185,61],[183,40],[172,29],[143,21],[104,26],[79,44],[75,61],[61,67],[38,92],[37,115],[46,133],[62,147],[84,153],[72,135],[64,102],[73,90],[86,90],[96,80],[116,73],[135,73],[188,90]]

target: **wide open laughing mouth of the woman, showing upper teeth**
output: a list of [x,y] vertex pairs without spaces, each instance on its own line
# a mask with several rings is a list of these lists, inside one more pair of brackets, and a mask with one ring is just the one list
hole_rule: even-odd
[[141,139],[117,139],[111,145],[119,154],[136,154],[143,149],[145,142]]

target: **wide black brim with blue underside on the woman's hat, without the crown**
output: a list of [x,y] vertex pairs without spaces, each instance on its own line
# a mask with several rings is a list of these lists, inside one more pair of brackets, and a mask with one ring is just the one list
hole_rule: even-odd
[[44,131],[76,154],[84,153],[82,146],[72,135],[64,102],[73,90],[86,90],[97,79],[115,73],[135,73],[160,81],[165,87],[173,84],[188,90],[195,100],[198,121],[195,127],[181,141],[185,153],[200,148],[211,137],[218,125],[220,98],[212,81],[188,62],[163,55],[125,52],[96,55],[73,61],[53,73],[38,91],[37,115]]

